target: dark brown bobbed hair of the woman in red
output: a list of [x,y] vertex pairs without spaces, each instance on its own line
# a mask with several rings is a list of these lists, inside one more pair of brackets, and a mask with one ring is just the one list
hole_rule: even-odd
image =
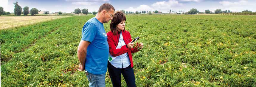
[[122,22],[122,21],[126,21],[126,17],[125,14],[121,11],[117,11],[114,16],[113,19],[111,20],[110,23],[110,30],[111,32],[113,32],[113,34],[117,34],[117,25]]

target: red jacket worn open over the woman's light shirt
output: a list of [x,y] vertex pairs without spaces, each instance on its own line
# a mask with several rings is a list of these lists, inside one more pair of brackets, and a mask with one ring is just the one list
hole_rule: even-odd
[[129,59],[130,59],[130,62],[131,62],[131,67],[133,67],[131,53],[138,52],[139,50],[137,49],[137,47],[129,49],[126,46],[129,42],[132,41],[130,32],[128,32],[126,30],[122,30],[122,36],[123,36],[123,39],[124,39],[124,42],[125,42],[126,45],[123,45],[119,49],[116,49],[116,47],[117,47],[118,42],[119,42],[120,32],[117,32],[117,34],[114,35],[113,32],[109,31],[107,33],[107,36],[108,36],[108,46],[109,46],[110,55],[115,57],[115,56],[119,56],[119,55],[122,55],[122,54],[128,52],[128,56],[129,56]]

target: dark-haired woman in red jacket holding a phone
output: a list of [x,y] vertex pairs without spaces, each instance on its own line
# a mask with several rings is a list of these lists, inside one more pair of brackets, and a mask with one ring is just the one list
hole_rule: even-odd
[[121,87],[121,74],[128,87],[136,87],[133,71],[132,54],[143,48],[143,43],[133,47],[131,35],[125,30],[126,17],[122,12],[116,12],[110,23],[107,33],[110,57],[108,60],[108,73],[114,87]]

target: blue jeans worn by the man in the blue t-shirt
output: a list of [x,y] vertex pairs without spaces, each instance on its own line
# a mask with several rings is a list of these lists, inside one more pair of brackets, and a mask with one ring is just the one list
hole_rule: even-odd
[[105,75],[106,73],[100,75],[92,74],[89,72],[87,75],[86,73],[89,81],[89,87],[105,87]]

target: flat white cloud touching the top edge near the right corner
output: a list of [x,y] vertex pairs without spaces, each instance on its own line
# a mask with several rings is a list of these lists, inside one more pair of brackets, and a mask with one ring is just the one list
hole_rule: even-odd
[[220,1],[222,6],[242,6],[248,4],[246,0],[240,0],[238,2],[230,2],[230,1]]

